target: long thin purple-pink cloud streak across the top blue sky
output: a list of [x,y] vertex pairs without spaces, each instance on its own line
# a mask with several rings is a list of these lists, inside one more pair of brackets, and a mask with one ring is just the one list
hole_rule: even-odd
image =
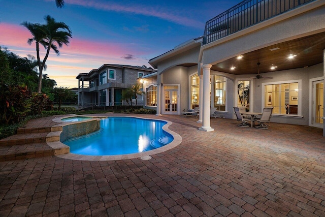
[[174,15],[172,13],[167,13],[166,11],[170,11],[170,9],[166,9],[166,8],[156,9],[156,8],[147,7],[143,5],[131,5],[131,4],[124,6],[124,5],[114,4],[112,2],[105,4],[105,3],[99,3],[96,1],[87,1],[87,0],[67,0],[66,2],[67,4],[80,5],[83,7],[94,8],[97,10],[116,11],[116,12],[133,13],[133,14],[141,14],[145,16],[158,17],[160,19],[168,20],[170,22],[174,22],[184,26],[191,26],[196,28],[202,28],[204,26],[204,23],[198,20],[190,19],[180,15],[179,16]]

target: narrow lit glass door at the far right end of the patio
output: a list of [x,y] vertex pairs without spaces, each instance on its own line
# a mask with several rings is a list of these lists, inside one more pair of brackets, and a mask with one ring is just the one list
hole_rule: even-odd
[[323,128],[324,82],[313,82],[313,122],[315,127]]

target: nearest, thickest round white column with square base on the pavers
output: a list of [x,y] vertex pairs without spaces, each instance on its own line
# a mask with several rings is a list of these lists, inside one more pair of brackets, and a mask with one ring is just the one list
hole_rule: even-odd
[[214,131],[213,128],[210,126],[210,69],[212,67],[211,64],[205,64],[203,67],[203,103],[202,103],[202,110],[200,113],[203,112],[203,119],[202,119],[202,127],[199,128],[201,131],[210,132]]

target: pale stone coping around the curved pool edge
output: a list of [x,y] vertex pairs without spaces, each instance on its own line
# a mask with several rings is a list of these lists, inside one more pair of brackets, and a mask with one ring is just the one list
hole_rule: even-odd
[[[83,116],[83,115],[70,115],[70,117],[74,116]],[[124,159],[134,159],[134,158],[141,158],[142,160],[149,160],[151,159],[151,156],[157,153],[165,152],[167,150],[170,150],[177,145],[179,145],[182,142],[182,137],[175,133],[174,131],[169,129],[169,126],[173,124],[172,121],[169,120],[163,120],[163,119],[158,119],[158,118],[145,118],[145,117],[134,117],[134,116],[92,116],[92,115],[87,115],[87,117],[92,117],[92,118],[109,118],[109,117],[133,117],[133,118],[140,118],[140,119],[147,119],[147,120],[159,120],[159,121],[164,121],[167,122],[166,125],[163,126],[163,130],[166,131],[167,133],[171,134],[174,137],[174,140],[167,144],[164,145],[163,147],[159,147],[153,150],[149,151],[144,151],[140,153],[131,153],[131,154],[117,154],[117,155],[112,155],[112,156],[92,156],[92,155],[83,155],[83,154],[75,154],[70,152],[70,147],[66,144],[63,144],[60,141],[53,141],[53,142],[47,142],[47,144],[50,147],[61,147],[62,149],[67,149],[69,148],[69,153],[60,153],[58,152],[55,154],[56,157],[63,158],[63,159],[70,159],[70,160],[80,160],[80,161],[114,161],[114,160],[124,160]],[[81,121],[75,121],[75,122],[67,122],[67,121],[62,121],[61,119],[67,118],[67,117],[58,117],[54,118],[54,122],[58,122],[58,125],[55,125],[53,127],[63,127],[66,125],[72,125],[75,123],[80,123],[80,122],[86,122],[86,121],[91,121],[93,119],[87,119],[87,120],[81,120]],[[57,131],[60,134],[61,131]],[[54,132],[53,132],[54,133]],[[58,135],[59,136],[59,135]]]

